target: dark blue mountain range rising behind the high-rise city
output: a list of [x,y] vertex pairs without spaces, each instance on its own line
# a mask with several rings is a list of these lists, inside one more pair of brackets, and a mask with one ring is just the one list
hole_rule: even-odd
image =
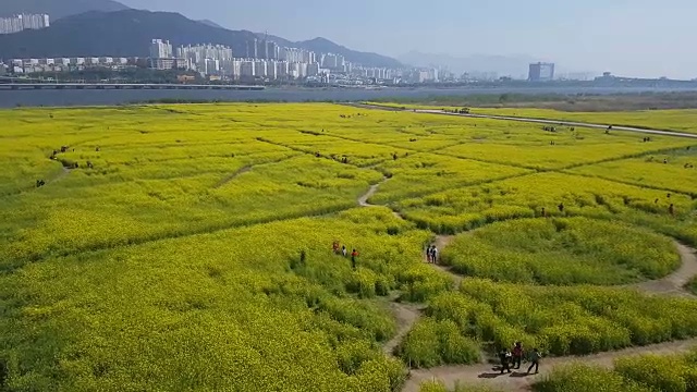
[[[236,57],[244,57],[247,44],[261,38],[252,32],[223,28],[209,20],[193,21],[173,12],[133,10],[112,0],[0,0],[0,15],[22,12],[48,13],[51,26],[0,35],[0,58],[148,57],[154,38],[170,40],[173,46],[225,45]],[[342,54],[366,66],[402,65],[395,59],[351,50],[325,38],[298,42],[276,36],[268,39],[281,47]]]

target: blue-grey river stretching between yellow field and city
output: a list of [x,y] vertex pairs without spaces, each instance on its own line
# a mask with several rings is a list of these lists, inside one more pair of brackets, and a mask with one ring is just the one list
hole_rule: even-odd
[[280,100],[289,102],[303,101],[357,101],[389,97],[429,97],[429,96],[467,96],[480,94],[500,95],[515,94],[635,94],[688,91],[692,89],[674,88],[617,88],[617,87],[470,87],[470,88],[268,88],[260,91],[228,90],[0,90],[0,108],[57,107],[57,106],[106,106],[142,102],[156,99],[196,99],[196,100]]

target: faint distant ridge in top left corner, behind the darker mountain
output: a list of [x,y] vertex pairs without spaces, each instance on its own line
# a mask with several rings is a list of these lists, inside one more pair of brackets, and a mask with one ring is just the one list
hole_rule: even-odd
[[51,21],[88,11],[122,11],[129,7],[113,0],[0,0],[0,16],[45,13]]

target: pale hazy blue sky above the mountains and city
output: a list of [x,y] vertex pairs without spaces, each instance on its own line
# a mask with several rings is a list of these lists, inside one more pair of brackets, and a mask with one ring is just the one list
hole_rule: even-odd
[[[529,54],[565,70],[697,77],[695,0],[121,0],[352,49]],[[524,71],[522,72],[524,73]]]

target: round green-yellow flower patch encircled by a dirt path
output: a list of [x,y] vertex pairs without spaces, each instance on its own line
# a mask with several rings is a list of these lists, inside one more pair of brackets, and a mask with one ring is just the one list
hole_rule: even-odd
[[680,266],[670,238],[586,218],[494,223],[457,237],[443,260],[468,277],[545,285],[632,283]]

